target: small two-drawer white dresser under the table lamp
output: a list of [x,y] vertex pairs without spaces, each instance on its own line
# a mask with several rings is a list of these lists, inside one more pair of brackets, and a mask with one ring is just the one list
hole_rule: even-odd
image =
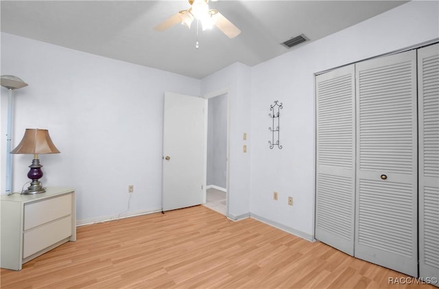
[[0,267],[21,270],[30,259],[76,240],[75,189],[1,195]]

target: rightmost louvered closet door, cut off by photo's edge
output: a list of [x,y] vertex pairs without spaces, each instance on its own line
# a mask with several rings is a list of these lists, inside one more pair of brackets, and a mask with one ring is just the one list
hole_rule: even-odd
[[418,115],[419,275],[439,278],[438,44],[418,50]]

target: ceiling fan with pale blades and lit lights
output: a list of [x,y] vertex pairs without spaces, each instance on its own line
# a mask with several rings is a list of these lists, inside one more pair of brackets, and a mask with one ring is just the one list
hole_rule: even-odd
[[[211,28],[213,25],[218,27],[228,38],[235,38],[241,33],[238,27],[233,25],[226,17],[216,9],[209,9],[209,0],[188,0],[191,7],[187,10],[182,10],[166,19],[163,23],[160,23],[154,27],[156,31],[164,31],[168,28],[182,23],[188,28],[191,27],[191,23],[194,19],[201,22],[202,30]],[[215,1],[215,0],[212,0]]]

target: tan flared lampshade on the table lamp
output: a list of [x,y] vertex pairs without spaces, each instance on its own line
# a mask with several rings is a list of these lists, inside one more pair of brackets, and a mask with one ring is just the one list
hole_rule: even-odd
[[26,128],[25,135],[11,154],[58,154],[60,151],[49,136],[49,130]]

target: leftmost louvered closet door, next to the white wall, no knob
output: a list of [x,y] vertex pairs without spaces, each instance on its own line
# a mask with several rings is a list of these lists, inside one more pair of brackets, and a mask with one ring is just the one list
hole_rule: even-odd
[[316,239],[354,252],[354,65],[316,77]]

